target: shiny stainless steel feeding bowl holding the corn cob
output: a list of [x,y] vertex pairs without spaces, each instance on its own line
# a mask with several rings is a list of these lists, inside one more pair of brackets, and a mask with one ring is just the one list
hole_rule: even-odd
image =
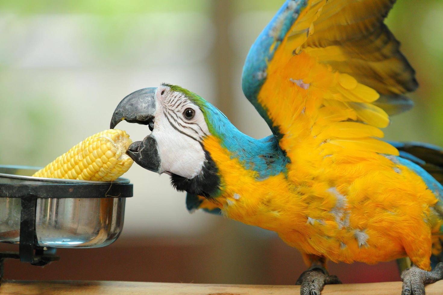
[[[57,184],[71,185],[66,192],[77,188],[85,188],[88,192],[95,192],[101,188],[103,196],[104,186],[130,185],[129,180],[119,178],[113,182],[62,180],[41,177],[31,177],[38,167],[0,166],[0,180],[19,190],[19,186],[28,184],[31,187],[46,185],[51,187]],[[74,185],[72,185],[74,184]],[[2,195],[0,181],[0,241],[19,244],[21,199]],[[5,185],[5,184],[4,184]],[[10,193],[11,189],[9,190]],[[98,190],[97,190],[98,192]],[[21,192],[20,192],[21,193]],[[39,196],[37,194],[37,196]],[[103,247],[115,241],[123,229],[124,197],[97,197],[92,198],[38,198],[35,213],[35,233],[37,245],[57,248],[96,248]]]

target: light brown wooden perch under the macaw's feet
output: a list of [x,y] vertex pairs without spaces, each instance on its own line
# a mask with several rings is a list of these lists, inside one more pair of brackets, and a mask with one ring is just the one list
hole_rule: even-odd
[[[3,281],[0,293],[4,295],[66,295],[66,294],[204,294],[204,295],[237,295],[237,294],[279,294],[298,295],[299,286],[273,285],[218,285],[218,284],[175,284],[145,283],[119,281]],[[401,282],[384,282],[370,284],[326,285],[322,295],[327,294],[377,294],[400,295]],[[441,295],[443,281],[426,286],[426,295]]]

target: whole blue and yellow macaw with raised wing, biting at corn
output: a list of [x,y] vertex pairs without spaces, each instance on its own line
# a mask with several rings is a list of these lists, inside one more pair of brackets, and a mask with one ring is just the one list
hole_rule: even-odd
[[[339,283],[327,260],[409,257],[402,294],[443,277],[443,154],[382,141],[412,107],[414,70],[383,23],[394,0],[287,0],[246,58],[242,86],[272,130],[256,140],[216,107],[162,84],[125,97],[121,120],[149,126],[128,155],[171,175],[190,210],[273,230],[303,254],[301,294]],[[436,264],[431,271],[432,261]],[[439,262],[439,264],[437,264]]]

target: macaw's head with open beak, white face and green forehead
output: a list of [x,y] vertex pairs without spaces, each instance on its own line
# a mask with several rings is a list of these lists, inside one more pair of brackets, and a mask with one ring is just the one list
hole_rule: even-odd
[[127,154],[138,165],[169,174],[178,190],[208,196],[218,190],[218,169],[203,140],[214,125],[232,124],[202,97],[170,84],[140,89],[118,104],[110,127],[122,120],[148,125],[152,131],[129,146]]

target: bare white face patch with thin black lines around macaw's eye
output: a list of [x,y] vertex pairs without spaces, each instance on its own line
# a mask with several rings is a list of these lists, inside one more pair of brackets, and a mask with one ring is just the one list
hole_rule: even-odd
[[[159,172],[193,178],[202,171],[206,161],[200,141],[210,132],[203,113],[182,93],[172,92],[166,85],[157,88],[155,96],[152,136],[157,142],[161,160]],[[192,119],[183,115],[189,108],[194,111]]]

